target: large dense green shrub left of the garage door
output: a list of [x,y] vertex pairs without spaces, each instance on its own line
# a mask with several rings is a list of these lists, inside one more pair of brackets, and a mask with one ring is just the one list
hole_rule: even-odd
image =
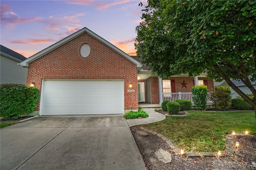
[[4,119],[16,119],[30,114],[36,108],[40,90],[24,84],[0,85],[0,116]]

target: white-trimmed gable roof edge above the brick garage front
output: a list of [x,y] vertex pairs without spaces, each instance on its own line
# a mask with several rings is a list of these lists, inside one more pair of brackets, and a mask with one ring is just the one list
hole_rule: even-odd
[[95,34],[94,32],[92,32],[91,30],[89,30],[88,28],[84,27],[81,30],[75,32],[74,34],[71,34],[70,36],[60,40],[59,42],[56,42],[55,44],[49,46],[48,48],[45,48],[44,50],[34,54],[33,56],[27,58],[26,60],[20,62],[20,66],[24,66],[24,67],[28,67],[29,63],[37,60],[38,58],[40,58],[41,56],[44,56],[45,54],[47,54],[48,52],[51,52],[52,50],[58,48],[59,46],[62,46],[63,44],[65,44],[66,42],[80,36],[81,34],[84,34],[85,32],[87,32],[88,34],[90,34],[91,36],[93,36],[94,38],[96,38],[97,40],[99,40],[100,42],[106,44],[107,46],[109,46],[110,48],[112,48],[113,50],[115,50],[116,52],[118,52],[119,54],[121,54],[122,56],[124,56],[125,58],[127,58],[128,60],[130,60],[131,62],[133,62],[134,64],[137,65],[138,70],[141,68],[141,64],[140,62],[138,62],[137,60],[135,60],[134,58],[132,58],[131,56],[129,56],[128,54],[126,54],[125,52],[123,52],[122,50],[120,50],[119,48],[117,48],[116,46],[114,46],[113,44],[111,44],[110,42],[108,42],[107,40],[103,39],[102,37],[98,36],[97,34]]

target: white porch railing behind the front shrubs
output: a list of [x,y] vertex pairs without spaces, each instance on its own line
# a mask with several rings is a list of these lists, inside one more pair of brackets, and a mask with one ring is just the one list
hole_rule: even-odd
[[[210,99],[210,95],[211,93],[208,92],[206,101],[208,103],[212,103],[212,100]],[[179,99],[188,99],[192,101],[192,92],[178,92],[178,93],[163,93],[163,101],[164,100],[169,100],[169,101],[175,101],[175,100],[179,100]]]

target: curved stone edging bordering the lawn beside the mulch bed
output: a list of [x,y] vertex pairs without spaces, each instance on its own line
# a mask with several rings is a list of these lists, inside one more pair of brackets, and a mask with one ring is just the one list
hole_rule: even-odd
[[[168,144],[173,149],[173,151],[175,152],[176,155],[180,155],[180,150],[172,143],[172,141],[170,141],[164,135],[162,135],[160,133],[157,133],[153,130],[148,130],[148,129],[143,128],[143,127],[140,127],[140,130],[142,130],[143,132],[151,133],[155,136],[158,136],[159,138],[164,140],[164,142],[166,142],[166,144]],[[235,150],[234,150],[234,148],[235,148],[234,141],[232,140],[231,134],[227,134],[225,136],[225,139],[226,139],[226,148],[225,148],[224,151],[220,151],[220,156],[219,157],[233,155],[234,152],[235,152]],[[186,155],[187,158],[218,157],[218,152],[185,152],[184,155]]]

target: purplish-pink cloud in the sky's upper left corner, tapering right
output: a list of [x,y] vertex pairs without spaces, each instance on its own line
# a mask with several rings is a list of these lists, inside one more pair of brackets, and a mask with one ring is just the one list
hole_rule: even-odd
[[13,29],[17,24],[42,20],[42,17],[22,18],[18,14],[10,11],[10,6],[1,4],[1,23]]

